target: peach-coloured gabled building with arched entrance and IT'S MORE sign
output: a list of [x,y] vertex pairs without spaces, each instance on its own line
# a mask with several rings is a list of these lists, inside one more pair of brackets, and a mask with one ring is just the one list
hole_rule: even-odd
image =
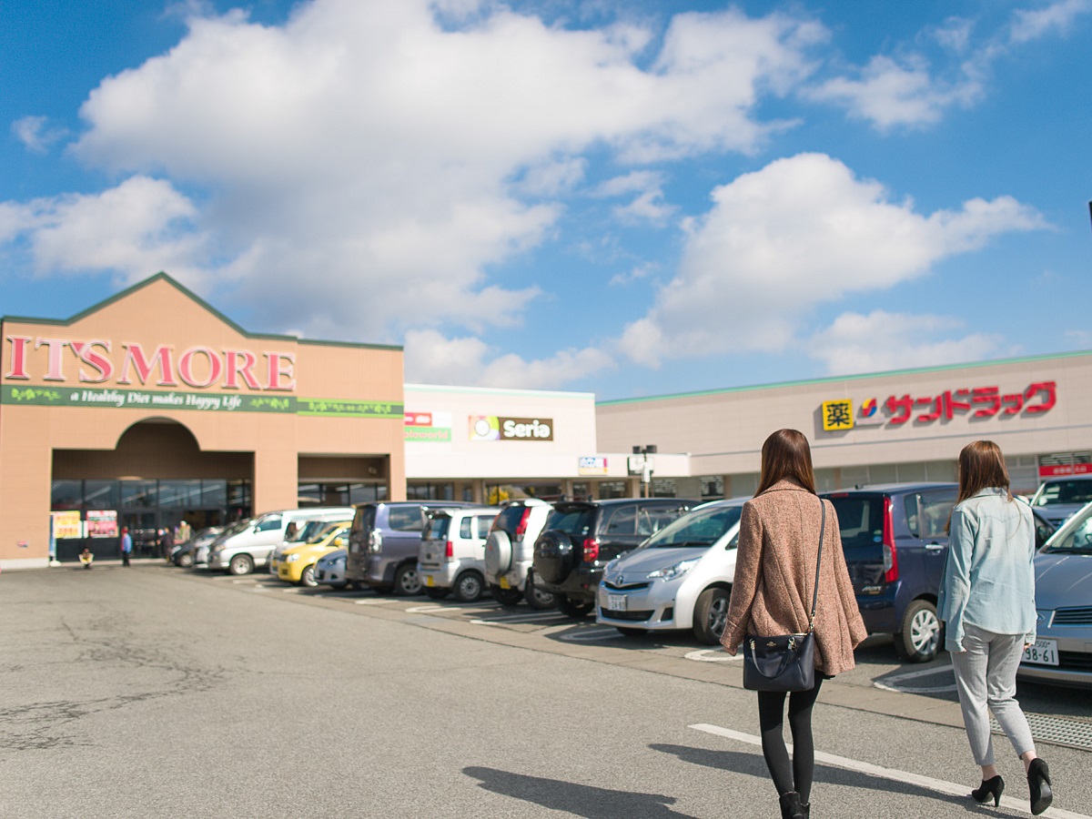
[[248,333],[163,273],[0,337],[0,567],[405,497],[401,347]]

